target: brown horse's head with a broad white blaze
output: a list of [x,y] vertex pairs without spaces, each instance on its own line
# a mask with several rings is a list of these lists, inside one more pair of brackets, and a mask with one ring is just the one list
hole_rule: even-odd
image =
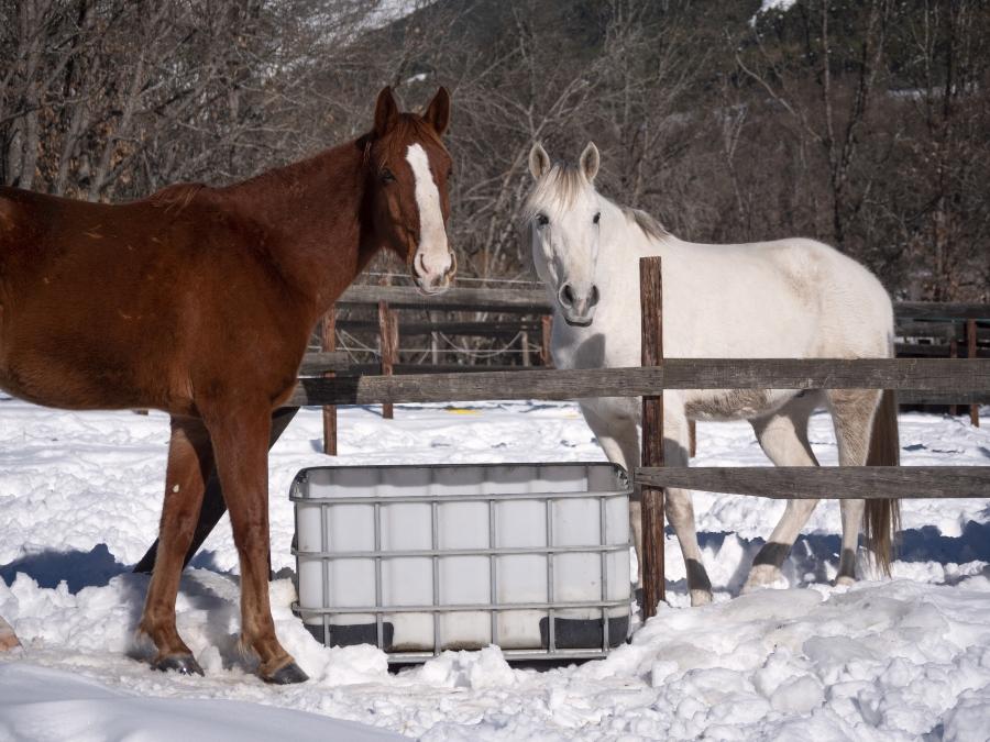
[[440,141],[449,120],[447,88],[422,115],[399,112],[392,88],[385,88],[364,143],[375,236],[406,261],[426,294],[446,290],[457,270],[447,243],[452,160]]

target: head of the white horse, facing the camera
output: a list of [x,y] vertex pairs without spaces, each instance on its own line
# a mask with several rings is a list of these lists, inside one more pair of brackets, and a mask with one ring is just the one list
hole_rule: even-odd
[[595,317],[598,287],[598,220],[602,198],[592,185],[598,148],[590,142],[578,167],[553,165],[537,143],[529,152],[536,186],[522,209],[537,274],[560,304],[568,324],[587,326]]

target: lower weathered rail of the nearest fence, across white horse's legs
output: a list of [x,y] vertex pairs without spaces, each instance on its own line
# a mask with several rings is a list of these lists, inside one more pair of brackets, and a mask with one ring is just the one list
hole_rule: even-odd
[[990,466],[641,467],[635,481],[773,499],[987,497]]

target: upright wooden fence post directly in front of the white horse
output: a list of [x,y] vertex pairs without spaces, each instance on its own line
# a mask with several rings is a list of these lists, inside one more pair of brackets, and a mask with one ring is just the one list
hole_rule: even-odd
[[[639,258],[642,365],[663,362],[663,286],[660,256]],[[642,398],[642,466],[663,466],[663,394]],[[666,600],[663,569],[663,489],[641,487],[642,501],[642,617],[657,614]]]

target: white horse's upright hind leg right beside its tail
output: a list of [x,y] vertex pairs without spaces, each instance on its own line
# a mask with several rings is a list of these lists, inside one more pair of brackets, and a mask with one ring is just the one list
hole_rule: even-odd
[[[865,466],[869,455],[870,429],[881,392],[873,389],[829,389],[828,408],[835,425],[839,466]],[[843,553],[836,585],[856,580],[856,554],[866,500],[842,500]]]

